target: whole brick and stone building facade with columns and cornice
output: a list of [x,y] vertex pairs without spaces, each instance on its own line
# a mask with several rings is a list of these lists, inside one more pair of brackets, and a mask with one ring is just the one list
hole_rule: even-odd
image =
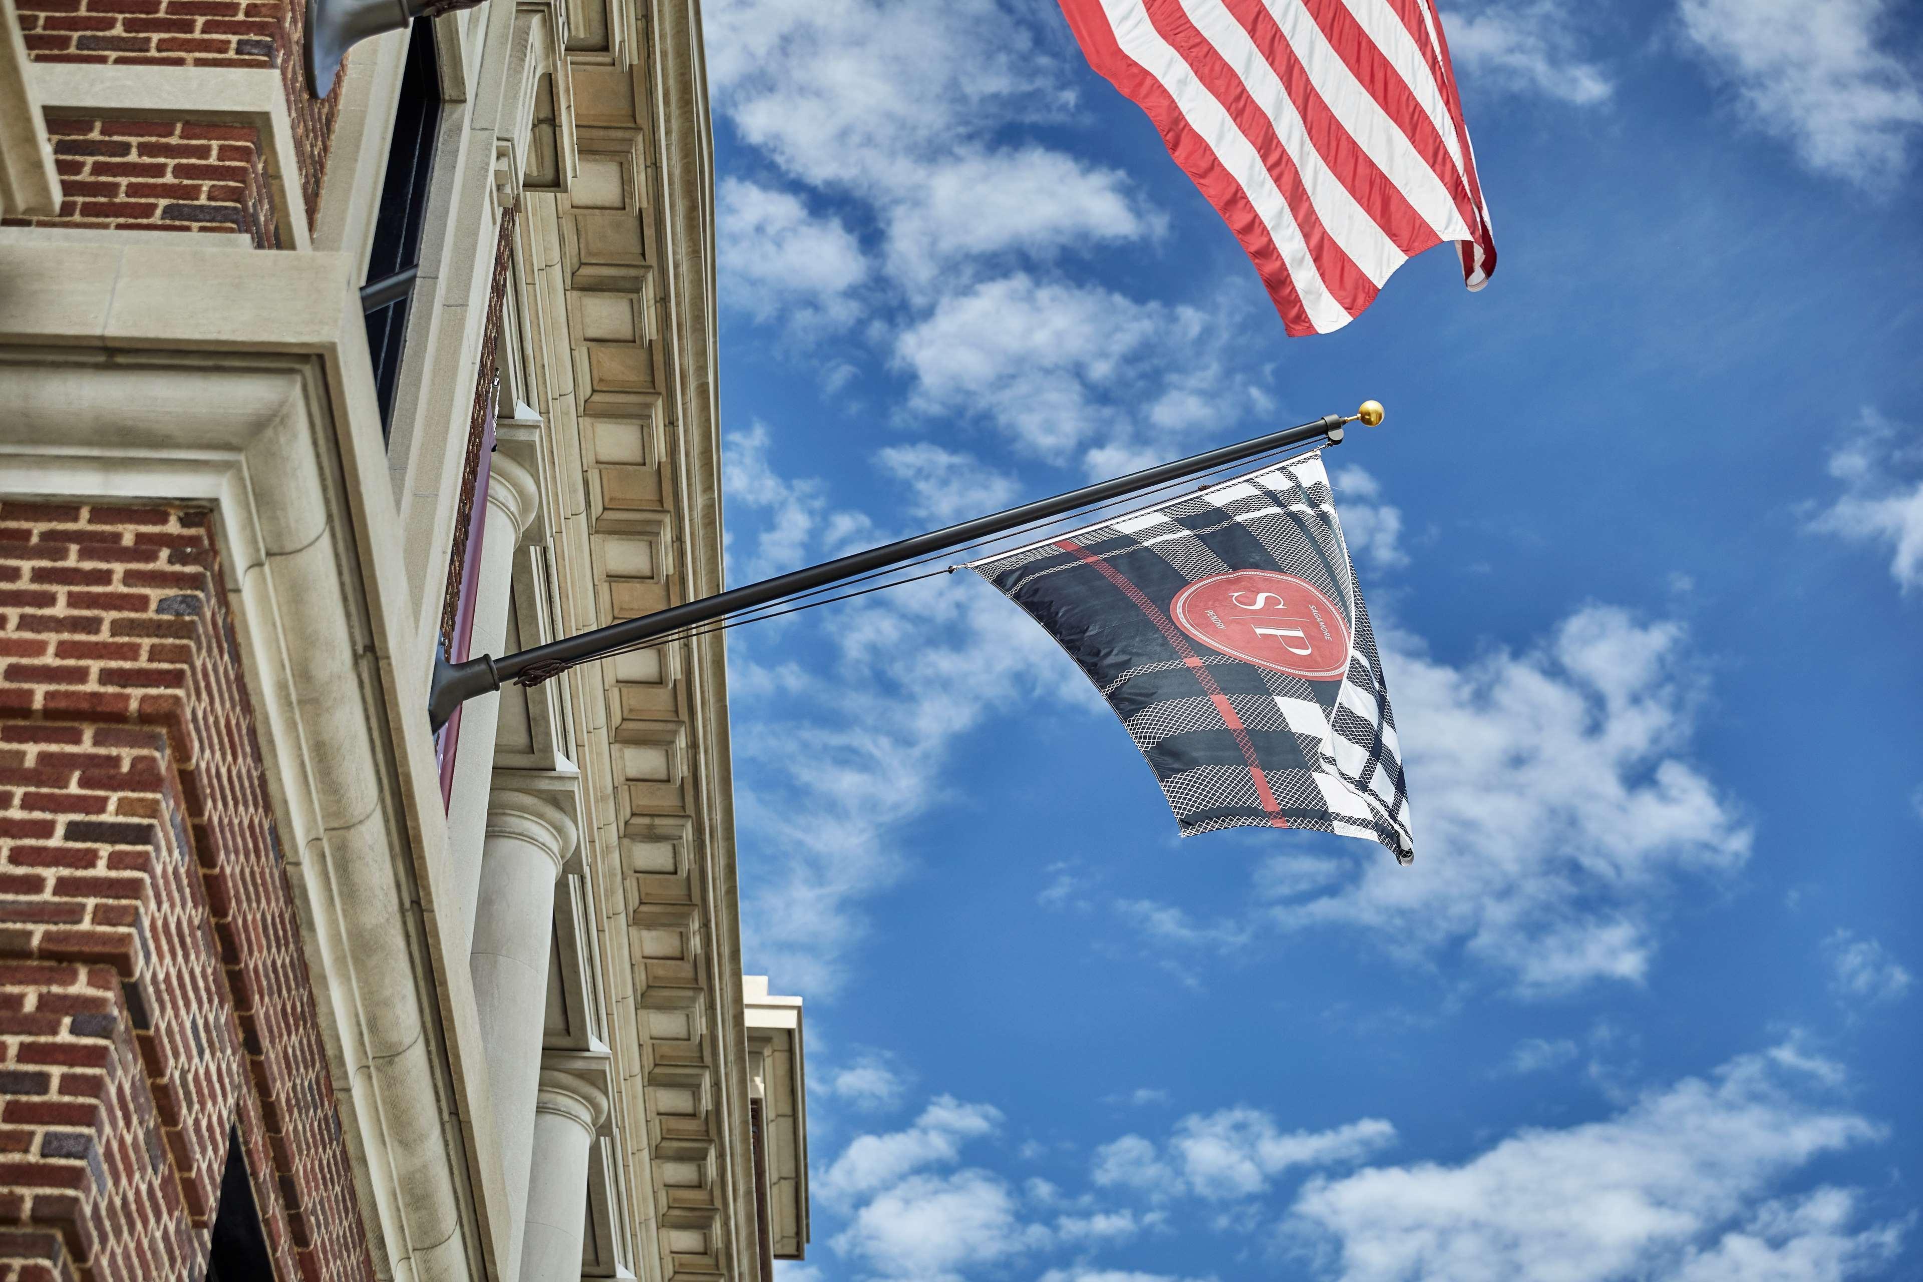
[[[325,17],[325,6],[321,6]],[[771,1282],[688,0],[0,0],[0,1282]]]

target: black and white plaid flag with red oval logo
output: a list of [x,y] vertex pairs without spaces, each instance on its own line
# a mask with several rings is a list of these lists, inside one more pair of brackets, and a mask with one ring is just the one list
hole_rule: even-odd
[[1183,836],[1313,828],[1415,857],[1383,661],[1319,450],[969,569],[1096,684]]

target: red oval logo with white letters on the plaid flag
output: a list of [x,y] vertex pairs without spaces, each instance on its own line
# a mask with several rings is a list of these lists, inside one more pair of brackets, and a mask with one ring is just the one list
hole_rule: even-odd
[[1210,650],[1308,680],[1348,673],[1348,619],[1294,575],[1238,569],[1183,588],[1169,615]]

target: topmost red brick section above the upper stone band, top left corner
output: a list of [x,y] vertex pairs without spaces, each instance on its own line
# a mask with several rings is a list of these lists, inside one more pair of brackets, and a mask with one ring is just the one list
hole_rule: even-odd
[[279,67],[292,163],[313,225],[340,81],[327,98],[308,94],[304,0],[17,0],[17,8],[35,62]]

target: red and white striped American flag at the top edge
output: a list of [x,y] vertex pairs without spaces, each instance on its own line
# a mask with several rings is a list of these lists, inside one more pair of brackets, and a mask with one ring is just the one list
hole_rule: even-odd
[[1061,0],[1161,133],[1290,334],[1327,334],[1444,240],[1496,269],[1435,0]]

